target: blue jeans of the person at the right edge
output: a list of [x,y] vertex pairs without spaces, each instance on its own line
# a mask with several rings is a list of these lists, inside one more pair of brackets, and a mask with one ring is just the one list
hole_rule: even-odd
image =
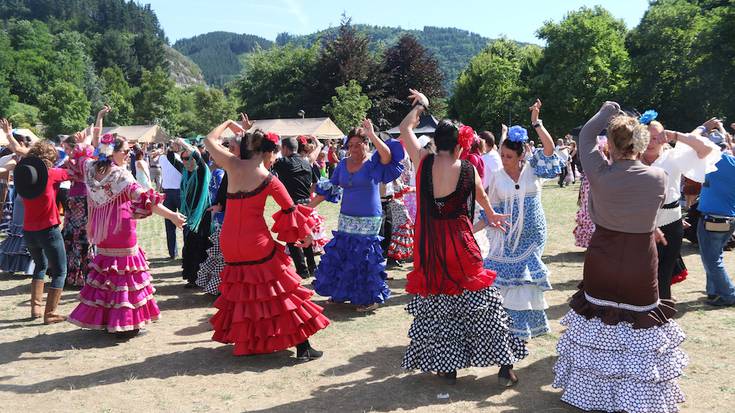
[[697,224],[699,255],[707,274],[707,295],[719,296],[721,300],[728,304],[735,303],[735,285],[733,285],[730,276],[727,275],[722,258],[725,245],[727,245],[733,231],[735,231],[735,221],[730,222],[730,230],[726,232],[704,229],[704,217]]

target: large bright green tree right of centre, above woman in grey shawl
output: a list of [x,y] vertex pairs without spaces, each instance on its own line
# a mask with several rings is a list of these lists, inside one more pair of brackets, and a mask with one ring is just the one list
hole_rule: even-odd
[[556,133],[584,122],[601,102],[627,93],[630,59],[625,23],[602,7],[583,7],[537,32],[546,41],[533,88]]

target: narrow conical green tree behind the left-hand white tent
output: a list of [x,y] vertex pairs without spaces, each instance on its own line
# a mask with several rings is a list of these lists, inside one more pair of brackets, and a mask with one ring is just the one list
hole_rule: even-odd
[[176,115],[179,102],[174,81],[168,73],[158,67],[153,71],[143,70],[137,105],[136,121],[143,124],[159,124],[170,133],[178,132]]

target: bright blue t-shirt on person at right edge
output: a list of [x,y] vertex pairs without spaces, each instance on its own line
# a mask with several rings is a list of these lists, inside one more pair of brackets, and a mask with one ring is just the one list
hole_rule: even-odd
[[703,214],[735,217],[735,157],[723,153],[715,166],[717,170],[704,177],[698,209]]

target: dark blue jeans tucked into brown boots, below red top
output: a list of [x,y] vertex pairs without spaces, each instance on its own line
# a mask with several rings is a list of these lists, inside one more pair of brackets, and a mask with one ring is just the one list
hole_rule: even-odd
[[64,288],[66,281],[66,250],[64,237],[58,226],[40,231],[23,231],[23,239],[36,268],[33,279],[43,281],[46,271],[51,277],[51,288]]

